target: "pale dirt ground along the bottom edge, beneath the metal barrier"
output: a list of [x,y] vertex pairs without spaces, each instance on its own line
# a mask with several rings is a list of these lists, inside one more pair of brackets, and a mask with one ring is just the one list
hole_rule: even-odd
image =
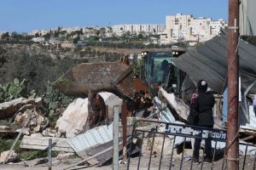
[[[180,166],[182,166],[182,169],[187,170],[190,169],[191,166],[191,159],[189,159],[189,156],[184,156],[183,157],[183,162],[181,163],[181,158],[180,157],[175,157],[172,159],[172,169],[180,169]],[[202,158],[201,158],[202,159]],[[244,157],[241,156],[240,159],[240,168],[242,169],[243,166],[243,161]],[[253,169],[253,161],[254,161],[254,157],[250,157],[247,156],[247,161],[245,163],[245,167],[244,169],[249,170],[249,169]],[[32,161],[22,161],[16,164],[7,164],[7,165],[0,165],[0,169],[4,169],[4,170],[44,170],[44,169],[48,169],[48,164],[44,163],[44,164],[40,164],[40,165],[35,165],[37,160],[32,160]],[[70,165],[73,165],[76,162],[81,161],[81,159],[79,157],[73,158],[73,159],[65,159],[65,160],[56,160],[55,158],[53,159],[53,167],[52,170],[62,170],[66,167],[69,167]],[[160,169],[169,169],[170,166],[170,161],[171,161],[171,156],[166,156],[164,158],[162,158],[161,161],[161,167]],[[137,162],[138,162],[138,157],[135,158],[131,158],[131,163],[130,163],[130,169],[134,170],[137,169]],[[141,163],[140,163],[140,169],[141,170],[146,170],[148,169],[148,165],[149,165],[149,156],[142,156],[141,159]],[[160,165],[160,156],[152,156],[151,161],[150,161],[150,169],[154,170],[154,169],[159,169],[159,165]],[[200,163],[200,164],[192,164],[193,167],[192,169],[212,169],[212,164],[206,164],[206,163]],[[201,165],[203,166],[201,168]],[[222,169],[222,165],[223,165],[223,158],[218,158],[218,160],[215,160],[213,162],[213,169]],[[84,168],[79,168],[79,169],[87,169],[87,170],[111,170],[112,169],[112,165],[108,165],[108,166],[102,166],[102,167],[84,167]],[[120,170],[125,170],[127,169],[127,164],[119,164],[119,169]],[[225,168],[224,168],[225,169]]]

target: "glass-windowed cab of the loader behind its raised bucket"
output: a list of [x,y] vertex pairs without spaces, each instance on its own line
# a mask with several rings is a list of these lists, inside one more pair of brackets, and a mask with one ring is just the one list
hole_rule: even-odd
[[141,79],[148,86],[148,92],[156,95],[158,87],[164,85],[179,92],[185,73],[172,65],[172,58],[178,57],[174,52],[142,52]]

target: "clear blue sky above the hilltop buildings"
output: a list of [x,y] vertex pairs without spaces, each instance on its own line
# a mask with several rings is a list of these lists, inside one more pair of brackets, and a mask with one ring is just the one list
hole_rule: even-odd
[[228,19],[228,0],[1,0],[0,31],[165,24],[166,15]]

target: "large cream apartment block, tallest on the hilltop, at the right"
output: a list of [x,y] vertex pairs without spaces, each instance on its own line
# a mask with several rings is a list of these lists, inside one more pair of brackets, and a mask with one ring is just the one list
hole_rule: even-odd
[[[166,16],[166,41],[160,42],[206,42],[219,34],[220,28],[227,26],[224,20],[212,20],[192,14],[176,14]],[[164,38],[164,37],[163,37]]]

